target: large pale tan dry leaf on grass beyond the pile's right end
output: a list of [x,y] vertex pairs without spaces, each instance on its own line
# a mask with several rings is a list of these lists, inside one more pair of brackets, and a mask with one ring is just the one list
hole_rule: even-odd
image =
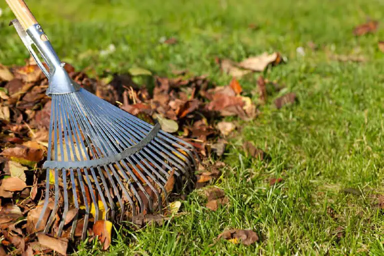
[[238,63],[238,66],[252,71],[263,71],[269,64],[278,64],[280,62],[282,62],[280,53],[273,52],[272,54],[268,54],[264,52],[261,55],[244,59]]

